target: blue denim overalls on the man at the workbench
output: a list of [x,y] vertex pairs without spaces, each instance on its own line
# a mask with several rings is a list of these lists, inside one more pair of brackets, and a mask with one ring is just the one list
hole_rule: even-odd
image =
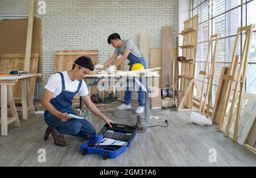
[[[133,67],[134,64],[139,63],[142,64],[144,69],[146,69],[146,61],[144,59],[144,57],[136,57],[135,55],[133,55],[131,52],[129,53],[129,55],[127,56],[127,59],[129,60],[130,63],[130,68],[129,71],[131,71],[131,68]],[[139,78],[139,81],[142,82],[142,79]],[[127,91],[125,91],[125,104],[129,105],[131,102],[131,94],[133,93],[133,91],[129,90],[129,88],[127,87],[126,89]],[[139,102],[139,106],[144,106],[144,92],[142,91],[142,88],[139,87],[139,91],[138,91],[138,102]]]

